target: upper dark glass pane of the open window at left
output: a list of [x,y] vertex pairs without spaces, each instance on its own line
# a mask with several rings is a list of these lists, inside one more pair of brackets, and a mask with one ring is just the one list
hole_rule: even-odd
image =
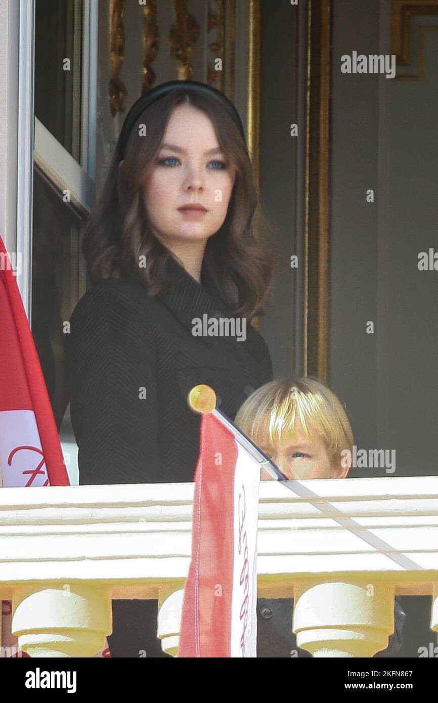
[[35,115],[80,163],[82,0],[35,2]]

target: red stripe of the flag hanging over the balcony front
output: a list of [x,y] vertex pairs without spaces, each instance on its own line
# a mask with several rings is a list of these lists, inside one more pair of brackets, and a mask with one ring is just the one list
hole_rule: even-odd
[[209,413],[202,415],[179,657],[230,657],[237,456],[231,432]]

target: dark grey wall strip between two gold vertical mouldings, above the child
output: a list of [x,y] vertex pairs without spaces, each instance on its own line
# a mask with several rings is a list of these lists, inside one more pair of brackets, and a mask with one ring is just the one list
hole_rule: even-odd
[[269,344],[274,378],[295,370],[294,312],[296,269],[290,268],[295,254],[297,227],[298,141],[290,136],[290,124],[299,122],[297,106],[298,11],[289,3],[262,0],[262,59],[260,105],[260,190],[262,207],[276,228],[278,264],[271,303],[261,321],[261,332]]

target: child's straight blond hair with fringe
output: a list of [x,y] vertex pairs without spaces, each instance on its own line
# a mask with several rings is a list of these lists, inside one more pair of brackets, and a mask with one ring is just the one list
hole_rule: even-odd
[[266,383],[243,403],[234,422],[255,444],[266,447],[281,442],[283,432],[293,437],[297,418],[309,439],[308,425],[314,426],[332,462],[341,458],[344,449],[352,451],[352,427],[340,399],[315,378]]

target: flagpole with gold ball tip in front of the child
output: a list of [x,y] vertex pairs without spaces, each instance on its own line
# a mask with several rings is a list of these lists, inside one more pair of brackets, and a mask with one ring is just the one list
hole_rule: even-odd
[[205,384],[195,386],[191,389],[188,394],[188,405],[195,411],[195,413],[202,413],[204,415],[210,414],[219,422],[226,427],[236,442],[243,446],[244,449],[250,455],[255,458],[259,465],[269,473],[269,475],[276,481],[288,481],[288,477],[281,472],[278,467],[266,456],[264,452],[255,444],[250,437],[240,430],[240,427],[235,425],[230,418],[228,418],[219,408],[216,407],[216,393],[212,387]]

